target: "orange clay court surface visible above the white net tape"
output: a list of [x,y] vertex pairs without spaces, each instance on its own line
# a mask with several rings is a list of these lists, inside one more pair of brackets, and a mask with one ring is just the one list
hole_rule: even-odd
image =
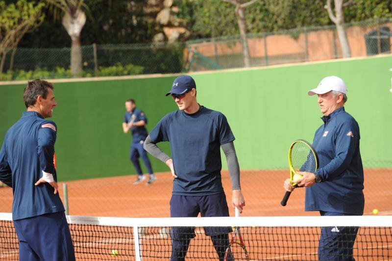
[[[379,209],[379,215],[392,215],[392,169],[365,169],[365,215]],[[116,217],[169,217],[172,176],[157,174],[151,185],[133,185],[135,176],[89,179],[67,182],[70,215]],[[246,207],[243,216],[319,215],[304,211],[305,189],[296,189],[286,207],[280,206],[285,193],[283,181],[289,177],[284,170],[243,170],[241,186]],[[231,201],[231,183],[227,171],[222,172],[227,202]],[[60,183],[63,199],[63,185]],[[11,212],[12,189],[0,188],[0,212]],[[230,215],[234,215],[234,209]]]

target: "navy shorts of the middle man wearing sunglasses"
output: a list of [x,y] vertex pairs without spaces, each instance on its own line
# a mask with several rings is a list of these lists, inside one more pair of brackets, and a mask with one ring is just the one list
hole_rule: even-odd
[[[172,195],[170,200],[171,217],[197,217],[198,213],[202,217],[227,217],[229,208],[227,207],[226,195],[219,194],[207,196],[180,196]],[[231,227],[204,227],[206,235],[224,235],[232,232]],[[172,239],[194,238],[194,227],[172,227]]]

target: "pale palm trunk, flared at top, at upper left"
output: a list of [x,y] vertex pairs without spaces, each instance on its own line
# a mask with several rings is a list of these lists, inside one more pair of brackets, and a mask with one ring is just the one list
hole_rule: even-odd
[[82,51],[80,33],[86,23],[88,10],[84,0],[46,0],[54,6],[54,17],[60,11],[63,15],[62,24],[71,37],[71,73],[73,77],[80,77],[82,73]]

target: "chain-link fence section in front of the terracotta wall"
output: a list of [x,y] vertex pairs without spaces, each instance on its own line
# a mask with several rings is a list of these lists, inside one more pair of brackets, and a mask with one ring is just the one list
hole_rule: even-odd
[[[345,24],[351,57],[391,52],[391,20]],[[342,58],[336,26],[304,27],[248,34],[251,66]],[[244,67],[240,36],[187,42],[187,70],[203,71]]]

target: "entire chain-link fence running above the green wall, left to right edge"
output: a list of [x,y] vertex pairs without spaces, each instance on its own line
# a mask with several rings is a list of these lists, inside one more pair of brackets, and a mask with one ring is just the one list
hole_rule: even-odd
[[[351,57],[391,52],[392,20],[345,24]],[[251,66],[342,57],[335,26],[248,34]],[[90,45],[81,47],[82,77],[180,73],[244,67],[239,35],[186,43]],[[9,50],[0,80],[70,78],[70,48]]]

